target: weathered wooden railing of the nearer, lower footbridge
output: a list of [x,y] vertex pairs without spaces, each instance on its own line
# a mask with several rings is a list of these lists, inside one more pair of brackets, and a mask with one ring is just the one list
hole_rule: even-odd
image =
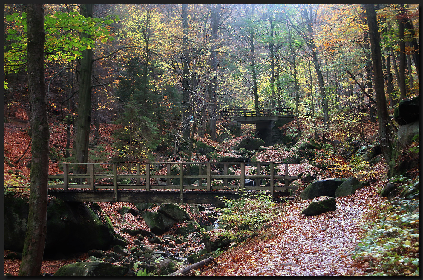
[[[75,163],[59,163],[63,174],[49,175],[50,188],[286,191],[291,180],[286,162],[131,162],[80,163],[86,174],[74,174]],[[219,167],[214,171],[212,165]],[[157,171],[155,171],[157,170]],[[179,172],[182,170],[182,172]],[[280,183],[277,183],[280,182]],[[276,183],[276,184],[275,184]],[[284,183],[284,186],[282,185]],[[117,197],[117,196],[115,196]]]

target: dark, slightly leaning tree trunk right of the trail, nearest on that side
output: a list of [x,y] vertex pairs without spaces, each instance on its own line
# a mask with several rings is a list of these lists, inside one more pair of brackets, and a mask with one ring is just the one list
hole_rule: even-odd
[[381,150],[385,162],[388,165],[391,165],[391,157],[393,152],[392,125],[390,122],[385,98],[380,35],[376,21],[376,12],[373,4],[363,4],[363,7],[367,17],[371,44],[371,58],[374,70],[374,94],[376,97],[377,114],[379,119],[379,137]]

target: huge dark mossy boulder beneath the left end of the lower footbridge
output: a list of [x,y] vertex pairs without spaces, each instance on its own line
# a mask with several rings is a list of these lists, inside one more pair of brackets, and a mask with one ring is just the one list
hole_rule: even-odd
[[[114,239],[113,225],[97,203],[64,202],[53,198],[47,205],[47,236],[44,253],[107,250]],[[25,241],[28,199],[4,197],[4,248],[22,252]]]

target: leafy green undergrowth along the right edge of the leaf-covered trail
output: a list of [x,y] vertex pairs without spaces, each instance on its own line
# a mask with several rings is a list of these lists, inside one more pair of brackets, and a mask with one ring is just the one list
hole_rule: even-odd
[[365,225],[352,258],[368,263],[367,275],[419,276],[419,199],[402,197],[381,208],[378,221]]

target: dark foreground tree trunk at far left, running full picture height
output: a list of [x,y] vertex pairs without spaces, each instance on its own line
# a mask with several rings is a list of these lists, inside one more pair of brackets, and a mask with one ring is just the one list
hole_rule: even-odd
[[31,171],[27,231],[19,276],[40,276],[47,234],[49,123],[44,82],[44,4],[27,5]]

